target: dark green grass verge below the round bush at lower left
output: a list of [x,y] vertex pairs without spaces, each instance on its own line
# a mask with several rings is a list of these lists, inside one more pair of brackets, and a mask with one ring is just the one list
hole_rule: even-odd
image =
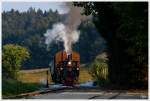
[[5,79],[2,80],[2,97],[32,92],[38,90],[40,87],[41,85],[36,83],[23,83],[17,80]]

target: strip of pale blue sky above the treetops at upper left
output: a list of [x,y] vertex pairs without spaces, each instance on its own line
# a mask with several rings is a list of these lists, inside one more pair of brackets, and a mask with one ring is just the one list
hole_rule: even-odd
[[2,2],[2,11],[10,11],[12,8],[20,12],[27,11],[30,7],[41,9],[42,11],[56,9],[60,14],[66,13],[68,11],[64,6],[64,2]]

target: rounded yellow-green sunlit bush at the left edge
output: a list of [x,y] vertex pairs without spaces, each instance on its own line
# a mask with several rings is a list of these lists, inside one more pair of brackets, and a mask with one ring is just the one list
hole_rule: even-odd
[[13,44],[4,45],[2,51],[3,77],[16,79],[22,61],[27,58],[29,58],[29,52],[26,48]]

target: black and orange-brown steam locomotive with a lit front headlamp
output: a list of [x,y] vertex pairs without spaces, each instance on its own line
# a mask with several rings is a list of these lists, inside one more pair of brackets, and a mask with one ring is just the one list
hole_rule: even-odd
[[54,56],[53,68],[51,68],[51,77],[53,82],[64,85],[73,85],[78,83],[80,56],[77,52],[67,54],[65,51],[59,51]]

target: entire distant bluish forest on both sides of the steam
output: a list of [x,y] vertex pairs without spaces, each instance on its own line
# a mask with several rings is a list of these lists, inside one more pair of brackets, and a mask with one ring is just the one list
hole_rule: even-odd
[[[60,15],[57,10],[43,12],[29,8],[27,12],[15,10],[2,13],[2,44],[18,44],[26,47],[31,55],[24,62],[24,68],[48,67],[57,51],[63,50],[63,44],[52,44],[47,48],[44,33],[52,25],[64,21],[66,14]],[[81,55],[81,63],[89,63],[105,48],[105,41],[97,32],[92,21],[83,22],[79,28],[80,39],[73,50]]]

